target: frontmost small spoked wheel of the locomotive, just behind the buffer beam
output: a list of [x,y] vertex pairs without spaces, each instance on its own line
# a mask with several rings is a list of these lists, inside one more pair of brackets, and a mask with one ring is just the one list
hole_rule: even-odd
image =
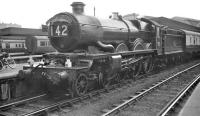
[[88,90],[88,80],[85,73],[80,73],[73,83],[73,93],[75,96],[82,96],[87,93]]

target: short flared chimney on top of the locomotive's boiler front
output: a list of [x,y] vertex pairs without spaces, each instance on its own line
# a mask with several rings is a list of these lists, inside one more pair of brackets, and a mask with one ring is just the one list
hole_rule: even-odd
[[83,2],[73,2],[71,6],[73,14],[79,14],[79,15],[84,14],[85,4]]

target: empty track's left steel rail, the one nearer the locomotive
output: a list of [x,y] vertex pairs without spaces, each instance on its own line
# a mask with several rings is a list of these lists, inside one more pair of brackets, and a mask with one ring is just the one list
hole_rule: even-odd
[[193,65],[193,66],[191,66],[191,67],[189,67],[189,68],[187,68],[187,69],[185,69],[185,70],[183,70],[183,71],[180,71],[180,72],[174,74],[173,76],[170,76],[169,78],[167,78],[167,79],[165,79],[165,80],[163,80],[163,81],[161,81],[161,82],[159,82],[159,83],[153,85],[152,87],[150,87],[150,88],[148,88],[147,90],[145,90],[145,91],[139,93],[138,95],[132,96],[131,99],[126,100],[125,102],[123,102],[123,103],[120,104],[119,106],[117,106],[117,107],[115,107],[115,108],[109,110],[108,112],[104,113],[102,116],[110,116],[110,115],[112,115],[112,114],[114,114],[114,113],[119,112],[121,109],[125,108],[126,106],[129,106],[129,105],[132,104],[134,101],[137,101],[137,100],[140,99],[142,96],[146,95],[147,93],[150,93],[151,91],[153,91],[153,90],[156,89],[157,87],[163,85],[164,83],[166,83],[166,82],[168,82],[169,80],[171,80],[171,79],[177,77],[178,75],[180,75],[180,74],[182,74],[182,73],[184,73],[184,72],[186,72],[186,71],[188,71],[188,70],[191,70],[191,69],[193,69],[193,68],[195,68],[195,67],[197,67],[197,66],[199,66],[199,65],[200,65],[200,63],[198,63],[198,64],[196,64],[196,65]]

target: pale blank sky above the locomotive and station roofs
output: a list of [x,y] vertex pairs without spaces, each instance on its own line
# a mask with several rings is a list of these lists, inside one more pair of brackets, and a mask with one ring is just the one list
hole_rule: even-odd
[[112,12],[121,15],[137,13],[148,16],[188,17],[200,20],[199,0],[0,0],[0,22],[16,23],[24,28],[40,28],[59,12],[71,12],[71,3],[86,4],[85,14],[108,18]]

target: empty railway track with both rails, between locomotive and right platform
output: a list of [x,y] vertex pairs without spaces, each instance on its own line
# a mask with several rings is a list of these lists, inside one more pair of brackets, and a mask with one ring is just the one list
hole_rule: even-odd
[[113,104],[102,111],[102,116],[165,116],[172,113],[184,94],[200,81],[200,75],[196,76],[199,67],[200,63]]

